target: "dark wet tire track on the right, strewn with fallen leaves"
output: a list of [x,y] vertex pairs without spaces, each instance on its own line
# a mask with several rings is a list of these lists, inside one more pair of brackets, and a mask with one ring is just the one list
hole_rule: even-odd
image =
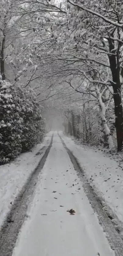
[[[60,135],[59,137],[71,159],[74,169],[77,171],[78,177],[83,182],[84,191],[89,199],[89,202],[91,203],[93,210],[96,212],[98,216],[99,224],[103,227],[103,232],[106,232],[106,236],[109,241],[110,247],[115,251],[116,256],[122,255],[123,240],[121,235],[118,232],[118,228],[112,222],[113,217],[105,210],[106,204],[103,205],[103,199],[101,199],[101,197],[97,195],[96,191],[89,184],[86,173],[79,165],[78,159],[76,159],[76,157],[73,155],[71,150],[67,148],[62,137]],[[110,207],[107,206],[107,208],[110,208]],[[114,218],[117,218],[117,217],[114,215]]]

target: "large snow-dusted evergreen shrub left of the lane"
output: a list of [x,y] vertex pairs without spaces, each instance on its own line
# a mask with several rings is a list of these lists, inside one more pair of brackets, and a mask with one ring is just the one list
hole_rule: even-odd
[[44,119],[31,89],[0,84],[0,164],[30,150],[44,136]]

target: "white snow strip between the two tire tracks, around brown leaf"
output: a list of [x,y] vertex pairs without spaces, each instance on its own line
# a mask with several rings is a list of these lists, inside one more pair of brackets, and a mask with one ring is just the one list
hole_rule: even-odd
[[34,255],[115,255],[57,133],[13,251]]

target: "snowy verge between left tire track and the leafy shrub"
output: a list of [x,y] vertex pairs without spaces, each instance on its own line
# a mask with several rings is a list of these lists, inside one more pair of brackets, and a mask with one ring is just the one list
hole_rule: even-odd
[[12,163],[0,166],[0,226],[17,194],[42,157],[36,153],[44,146],[49,146],[51,134],[48,133],[44,142],[34,147],[31,152],[21,154]]

